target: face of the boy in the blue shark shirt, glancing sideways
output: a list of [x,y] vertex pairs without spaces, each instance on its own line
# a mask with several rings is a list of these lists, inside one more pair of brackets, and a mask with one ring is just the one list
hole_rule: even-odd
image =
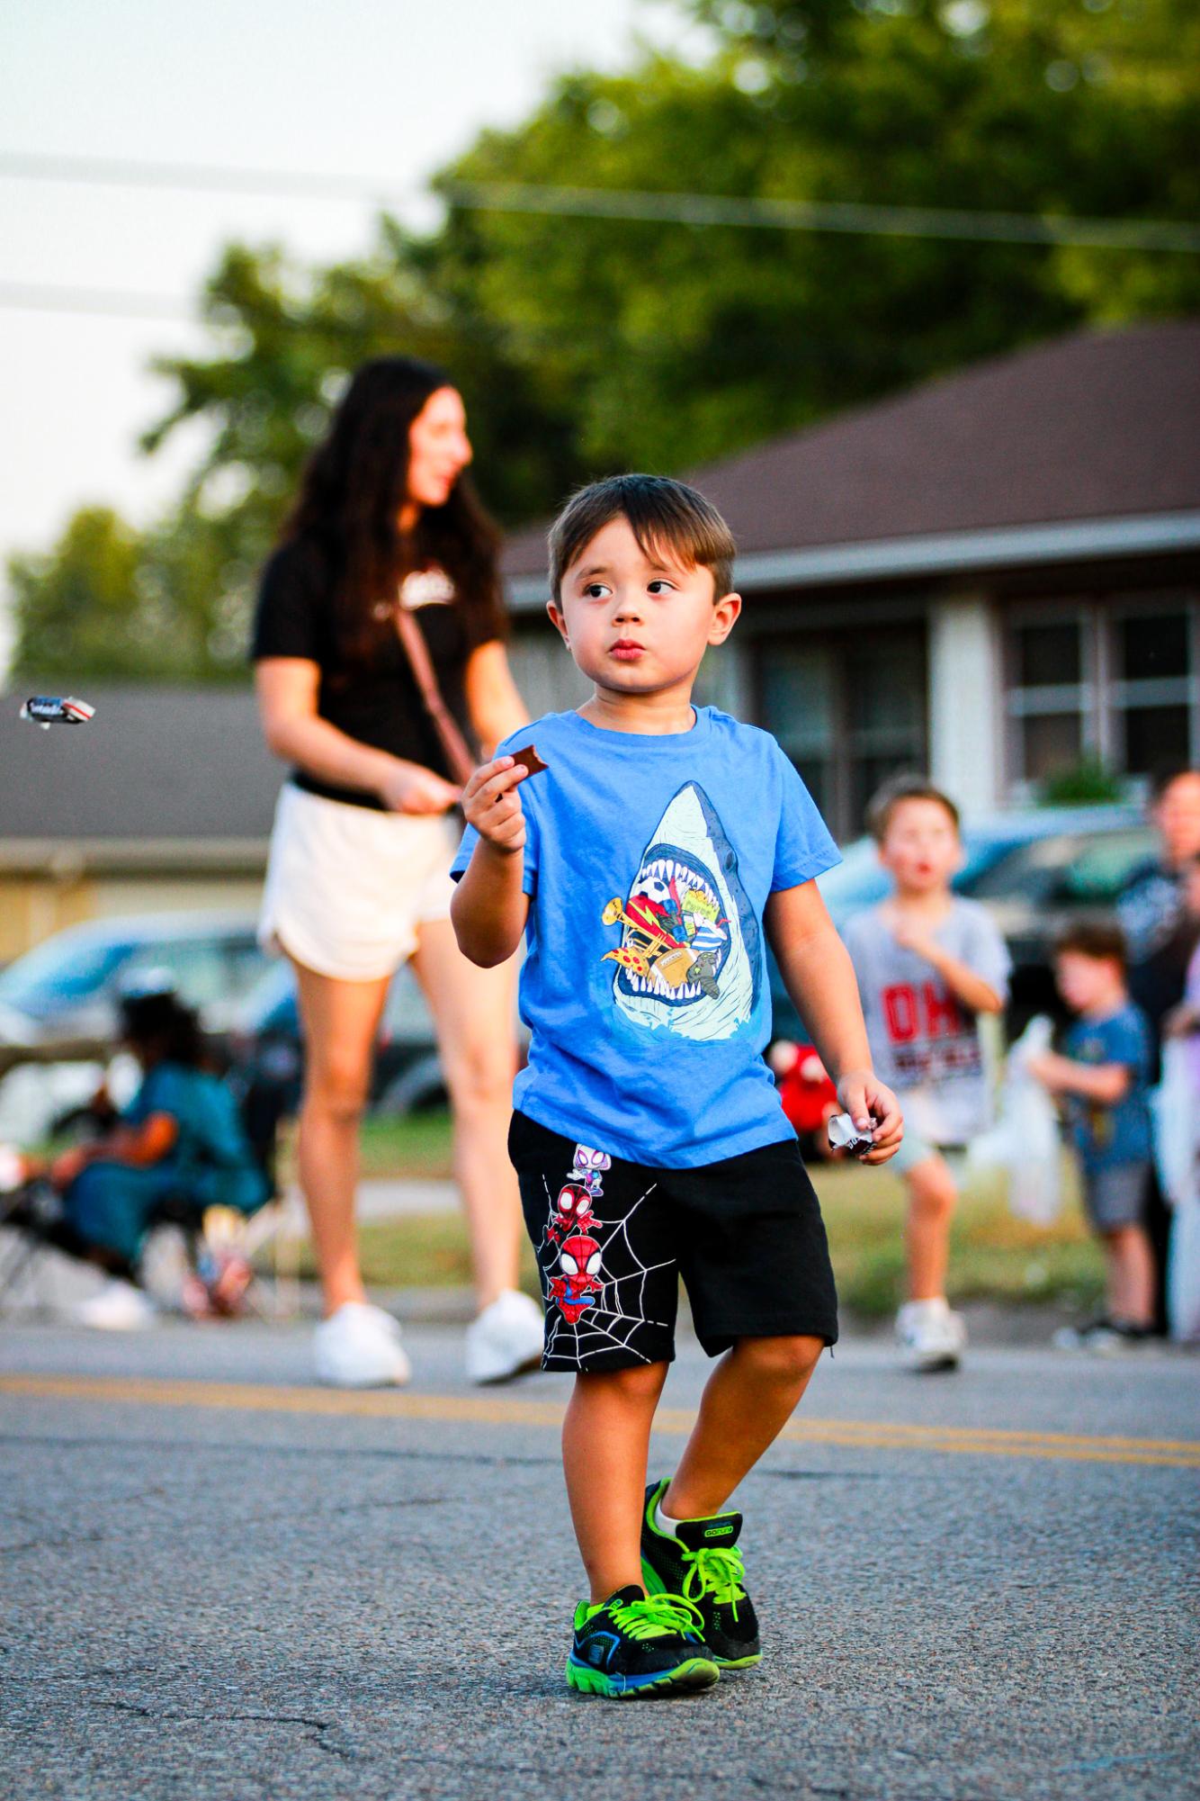
[[646,555],[626,519],[610,519],[563,573],[561,605],[549,614],[567,648],[599,688],[649,695],[689,681],[709,645],[723,643],[741,612],[738,594],[712,602],[712,571]]

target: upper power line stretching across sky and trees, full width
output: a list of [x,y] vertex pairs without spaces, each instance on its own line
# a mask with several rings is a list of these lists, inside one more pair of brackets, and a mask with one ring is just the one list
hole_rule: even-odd
[[[290,200],[412,202],[425,191],[360,175],[286,169],[151,164],[99,157],[0,151],[0,175],[18,180],[178,193],[255,195]],[[558,187],[533,182],[439,182],[435,195],[477,213],[543,213],[558,218],[619,218],[675,225],[734,225],[844,232],[882,238],[941,238],[963,243],[1081,245],[1094,250],[1200,254],[1200,225],[1173,220],[1067,218],[1034,213],[975,213],[748,195],[655,193],[631,187]]]

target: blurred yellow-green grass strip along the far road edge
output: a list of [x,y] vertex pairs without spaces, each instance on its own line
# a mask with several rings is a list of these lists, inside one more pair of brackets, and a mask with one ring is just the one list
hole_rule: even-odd
[[[444,1113],[371,1120],[363,1133],[369,1176],[448,1176],[450,1122]],[[903,1187],[887,1171],[819,1165],[813,1181],[829,1232],[842,1304],[862,1315],[887,1315],[901,1299]],[[963,1196],[952,1237],[952,1300],[1074,1302],[1103,1295],[1103,1263],[1088,1237],[1074,1185],[1061,1217],[1049,1228],[1015,1219],[1002,1178],[988,1174]],[[363,1272],[380,1288],[444,1288],[470,1282],[466,1230],[459,1214],[408,1217],[362,1230]],[[304,1259],[311,1273],[311,1259]],[[525,1279],[536,1291],[533,1253]]]

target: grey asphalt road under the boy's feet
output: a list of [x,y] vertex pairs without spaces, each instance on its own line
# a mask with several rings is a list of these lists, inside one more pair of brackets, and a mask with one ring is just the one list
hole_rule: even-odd
[[565,1380],[408,1344],[338,1396],[299,1326],[0,1333],[5,1801],[1200,1796],[1198,1358],[838,1347],[739,1497],[763,1668],[615,1704],[561,1677]]

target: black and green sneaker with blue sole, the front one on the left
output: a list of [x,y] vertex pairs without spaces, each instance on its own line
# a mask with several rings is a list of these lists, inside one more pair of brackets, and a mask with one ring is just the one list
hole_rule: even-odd
[[579,1601],[567,1688],[635,1700],[696,1693],[718,1677],[700,1639],[700,1614],[676,1594],[644,1596],[630,1585],[596,1606]]

